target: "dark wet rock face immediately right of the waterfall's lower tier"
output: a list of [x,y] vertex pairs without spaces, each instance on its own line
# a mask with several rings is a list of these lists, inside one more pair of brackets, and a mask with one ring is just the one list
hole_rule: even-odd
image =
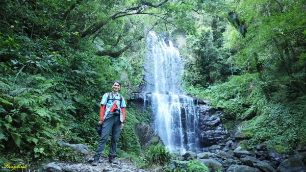
[[221,111],[217,111],[207,105],[199,105],[199,107],[198,131],[200,144],[210,146],[217,143],[225,143],[230,134],[221,122]]

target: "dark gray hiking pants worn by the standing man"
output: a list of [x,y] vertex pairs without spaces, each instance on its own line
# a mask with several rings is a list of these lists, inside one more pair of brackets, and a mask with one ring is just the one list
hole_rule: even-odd
[[121,121],[120,115],[114,115],[114,113],[109,113],[107,117],[104,119],[102,126],[101,138],[98,142],[98,148],[95,151],[93,158],[99,159],[100,154],[103,152],[107,138],[112,131],[112,141],[110,146],[109,155],[116,155],[117,151],[117,140],[119,138],[119,133],[121,130]]

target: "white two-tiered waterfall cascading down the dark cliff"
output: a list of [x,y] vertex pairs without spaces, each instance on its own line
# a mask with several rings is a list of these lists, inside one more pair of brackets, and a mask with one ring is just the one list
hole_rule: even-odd
[[[196,151],[198,110],[193,99],[180,90],[183,70],[180,53],[170,40],[165,41],[155,32],[149,33],[146,45],[143,67],[145,92],[152,93],[152,127],[168,149]],[[144,100],[146,106],[146,96]]]

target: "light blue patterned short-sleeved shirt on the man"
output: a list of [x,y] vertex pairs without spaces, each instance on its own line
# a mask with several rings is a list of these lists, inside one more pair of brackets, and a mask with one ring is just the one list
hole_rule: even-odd
[[[120,108],[125,108],[126,107],[126,104],[125,104],[125,101],[124,101],[124,97],[122,96],[122,102],[120,102],[120,94],[117,93],[116,95],[114,95],[112,92],[110,93],[111,96],[110,96],[110,100],[107,102],[107,98],[108,98],[108,93],[105,93],[102,97],[102,100],[101,100],[101,105],[106,105],[105,106],[105,113],[104,113],[104,117],[103,117],[103,120],[106,118],[106,116],[110,113],[110,110],[114,104],[114,100],[111,100],[111,99],[116,99],[116,105],[117,107],[120,109]],[[120,121],[123,122],[123,117],[122,117],[122,112],[120,111]]]

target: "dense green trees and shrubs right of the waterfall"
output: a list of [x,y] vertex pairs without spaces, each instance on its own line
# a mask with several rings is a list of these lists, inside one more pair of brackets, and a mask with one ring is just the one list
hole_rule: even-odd
[[267,141],[284,153],[305,145],[305,5],[228,2],[226,15],[202,17],[207,22],[188,37],[185,90],[223,109],[228,130],[245,122],[249,148]]

